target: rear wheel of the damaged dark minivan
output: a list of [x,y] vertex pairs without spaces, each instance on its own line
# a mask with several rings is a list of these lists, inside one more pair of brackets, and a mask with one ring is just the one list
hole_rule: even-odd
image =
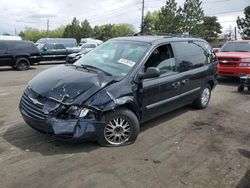
[[208,106],[211,98],[211,86],[206,84],[202,88],[199,97],[193,102],[193,106],[197,109],[204,109]]

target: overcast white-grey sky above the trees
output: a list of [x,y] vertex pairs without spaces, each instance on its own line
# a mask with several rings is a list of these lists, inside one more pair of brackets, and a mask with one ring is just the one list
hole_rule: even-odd
[[[180,6],[184,0],[177,0]],[[157,10],[165,0],[145,0],[145,9]],[[205,15],[218,16],[223,30],[236,26],[237,16],[250,0],[203,0]],[[34,27],[50,29],[65,25],[77,17],[85,18],[92,26],[106,23],[130,23],[138,30],[141,22],[141,0],[0,0],[0,33],[11,34]]]

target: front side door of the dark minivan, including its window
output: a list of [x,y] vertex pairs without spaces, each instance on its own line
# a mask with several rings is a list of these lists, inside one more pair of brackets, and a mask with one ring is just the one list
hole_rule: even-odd
[[145,69],[148,67],[157,67],[161,75],[142,81],[142,121],[181,106],[179,94],[182,76],[177,72],[171,45],[164,44],[156,48],[145,63]]

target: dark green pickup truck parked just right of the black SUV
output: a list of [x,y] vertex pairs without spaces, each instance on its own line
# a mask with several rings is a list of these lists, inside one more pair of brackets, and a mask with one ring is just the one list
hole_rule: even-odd
[[47,43],[37,44],[43,61],[65,60],[67,55],[76,52],[73,49],[67,49],[63,44]]

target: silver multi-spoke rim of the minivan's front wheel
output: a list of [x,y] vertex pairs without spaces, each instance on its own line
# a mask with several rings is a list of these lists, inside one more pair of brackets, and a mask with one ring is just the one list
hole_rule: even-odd
[[112,145],[123,144],[128,141],[131,135],[131,126],[123,118],[114,118],[109,121],[104,129],[104,136]]

